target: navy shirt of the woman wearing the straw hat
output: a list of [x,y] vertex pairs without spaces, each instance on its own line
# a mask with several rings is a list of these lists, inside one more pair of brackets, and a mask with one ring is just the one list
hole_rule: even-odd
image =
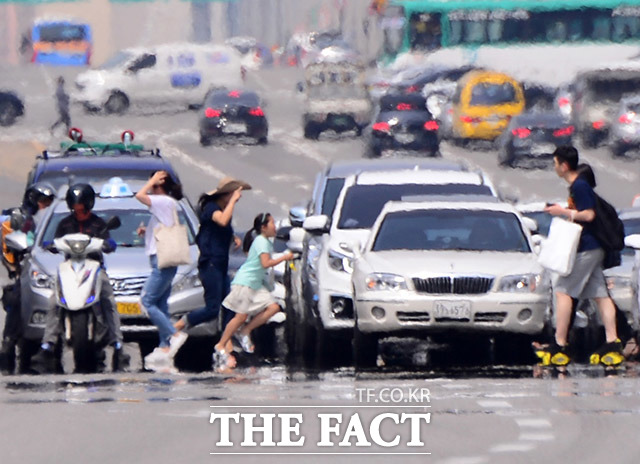
[[210,201],[200,212],[200,230],[196,236],[196,243],[200,249],[200,262],[211,259],[229,262],[233,227],[231,227],[231,221],[224,227],[214,222],[212,217],[216,211],[222,210],[215,201]]

